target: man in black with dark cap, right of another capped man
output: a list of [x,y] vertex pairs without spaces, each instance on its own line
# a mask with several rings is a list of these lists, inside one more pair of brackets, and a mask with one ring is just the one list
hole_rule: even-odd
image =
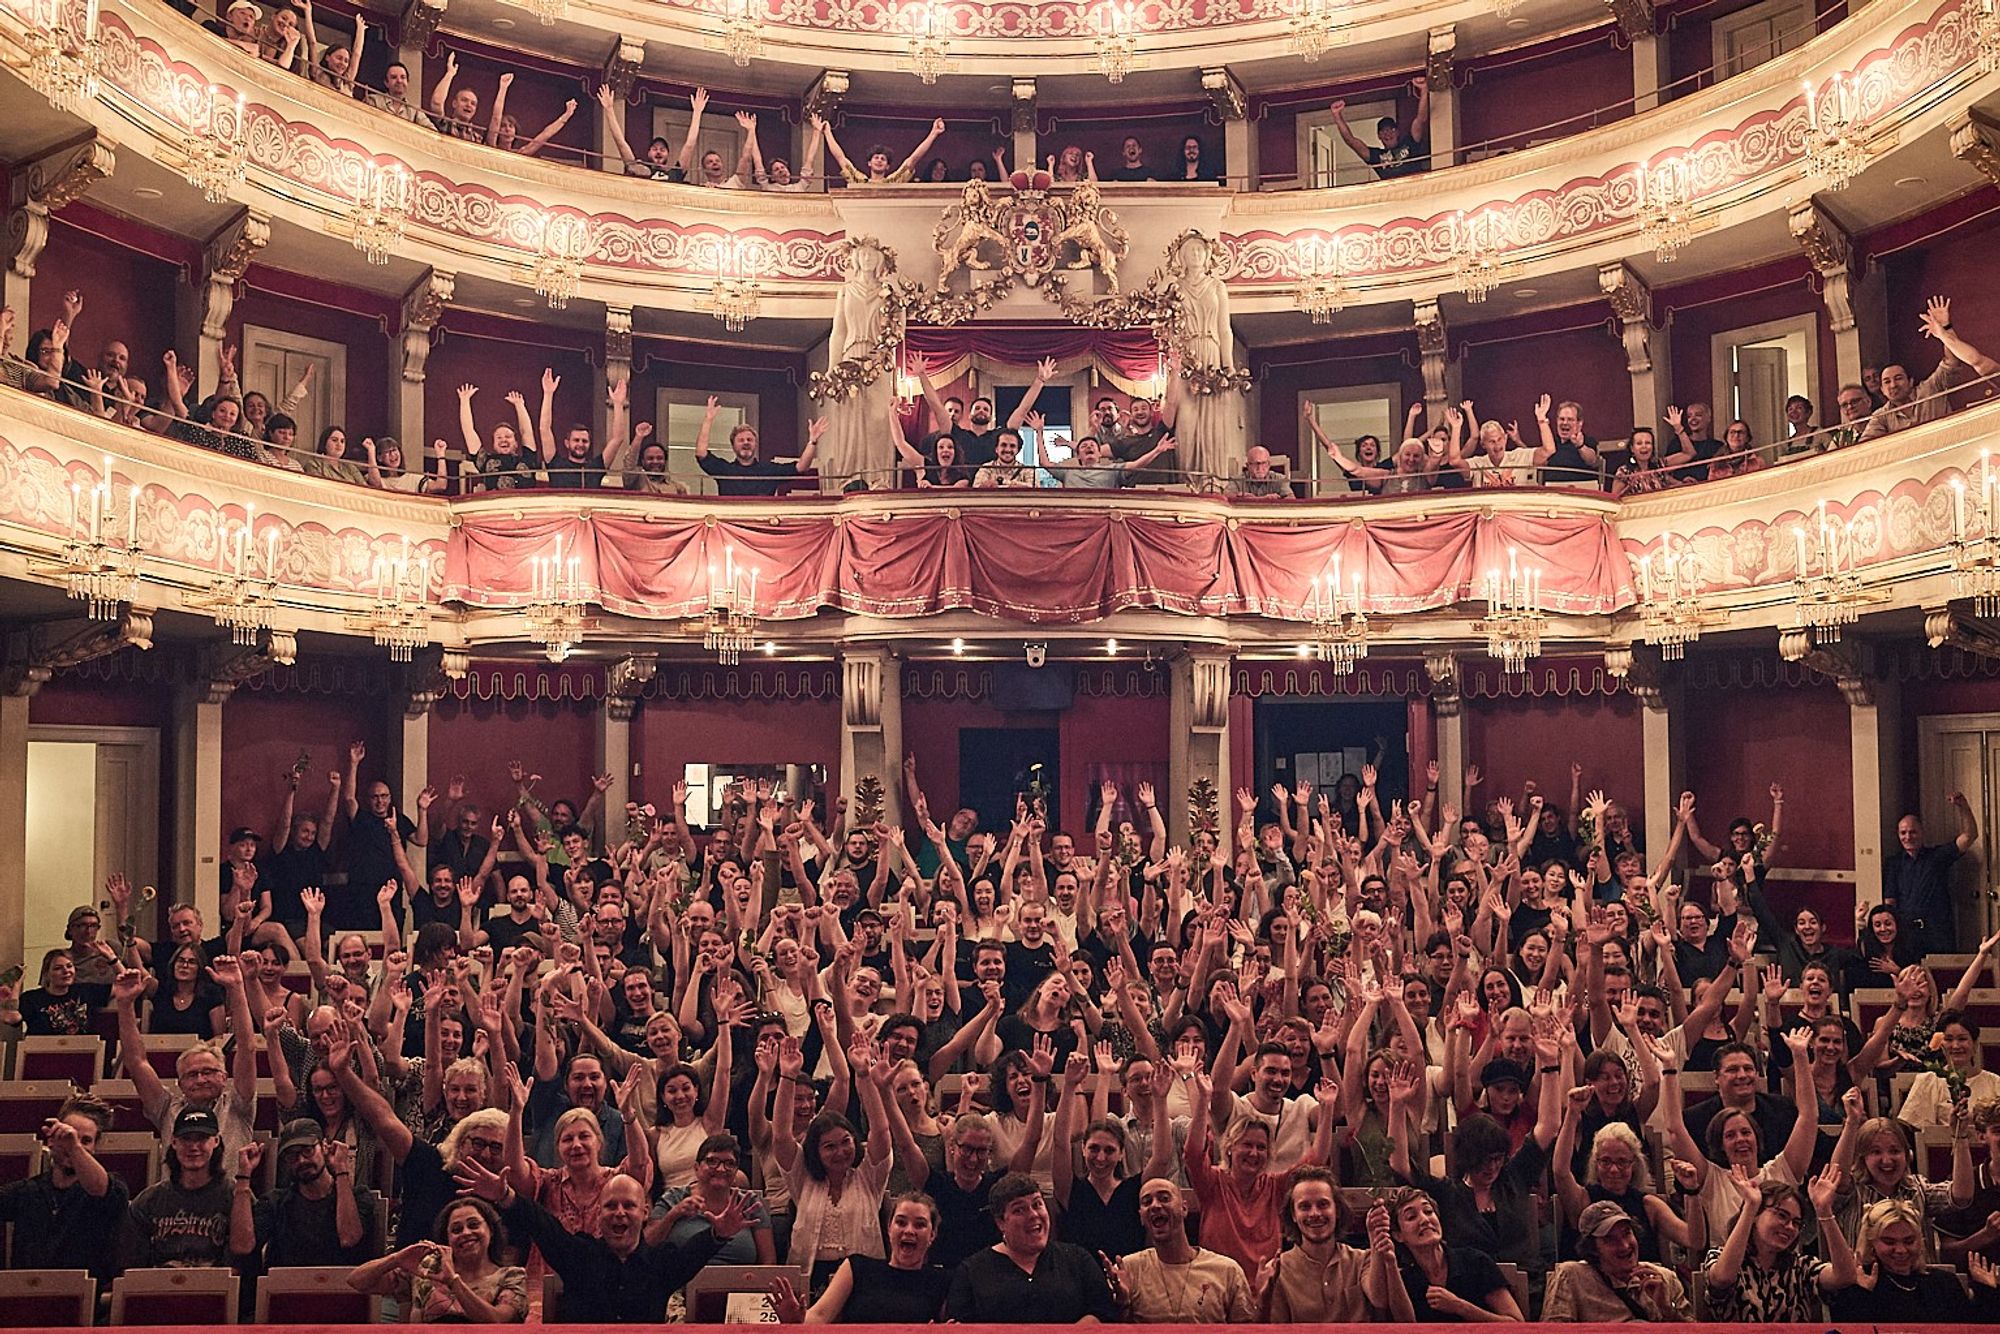
[[322,1134],[304,1116],[278,1128],[278,1188],[262,1200],[256,1178],[264,1144],[252,1140],[238,1150],[230,1254],[246,1270],[374,1258],[374,1192],[354,1188],[354,1150]]

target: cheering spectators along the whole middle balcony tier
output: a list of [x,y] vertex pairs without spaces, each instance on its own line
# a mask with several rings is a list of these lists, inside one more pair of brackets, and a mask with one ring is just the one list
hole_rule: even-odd
[[[750,130],[754,152],[754,126]],[[692,150],[692,138],[690,138]],[[834,146],[840,154],[840,148]],[[710,162],[708,158],[714,158]],[[716,154],[702,160],[702,172],[720,172]],[[844,154],[842,154],[844,160]],[[874,158],[870,160],[874,170]],[[220,382],[206,398],[190,402],[194,368],[168,350],[148,384],[144,370],[120,338],[98,344],[94,366],[72,352],[72,338],[84,314],[82,292],[66,292],[58,318],[34,330],[24,356],[12,354],[14,312],[0,310],[0,384],[62,402],[124,426],[164,434],[236,458],[304,472],[310,476],[432,496],[478,494],[516,488],[620,488],[640,494],[688,494],[684,476],[670,468],[666,442],[652,422],[632,422],[630,380],[614,378],[606,390],[606,436],[602,444],[586,422],[566,422],[558,434],[554,396],[562,378],[542,372],[538,408],[530,412],[520,390],[504,394],[506,408],[480,422],[480,386],[458,388],[456,442],[436,436],[428,452],[408,448],[394,436],[350,436],[328,424],[316,442],[298,436],[294,412],[312,388],[312,368],[272,404],[260,390],[244,390],[238,350],[220,352]],[[1864,372],[1860,384],[1844,384],[1836,398],[1840,422],[1822,426],[1812,400],[1786,402],[1784,456],[1816,454],[1876,440],[1952,410],[1952,392],[2000,374],[2000,362],[1968,344],[1952,324],[1952,304],[1932,298],[1922,314],[1922,330],[1942,354],[1936,368],[1916,380],[1904,366],[1890,364]],[[892,444],[898,466],[874,476],[846,478],[846,490],[894,488],[1014,488],[1062,486],[1118,490],[1134,484],[1186,488],[1198,494],[1238,498],[1292,498],[1300,494],[1274,452],[1252,444],[1234,476],[1198,476],[1176,466],[1174,420],[1182,400],[1180,362],[1170,354],[1166,394],[1160,400],[1134,396],[1120,404],[1100,394],[1090,418],[1072,428],[1050,428],[1038,410],[1056,376],[1054,362],[1040,362],[1034,380],[1002,422],[990,396],[940,396],[932,366],[912,362],[922,388],[924,430]],[[1060,388],[1066,396],[1068,390]],[[786,484],[814,474],[814,452],[824,418],[808,424],[804,440],[790,454],[766,452],[756,426],[744,422],[728,432],[728,450],[710,448],[720,400],[708,412],[694,444],[696,466],[714,478],[722,496],[776,496]],[[1302,404],[1302,426],[1334,468],[1346,474],[1352,494],[1408,496],[1430,490],[1484,486],[1584,486],[1614,496],[1642,496],[1700,480],[1720,480],[1758,472],[1778,448],[1760,444],[1748,422],[1732,420],[1714,434],[1716,418],[1706,402],[1670,406],[1666,430],[1634,426],[1624,440],[1600,442],[1586,430],[1584,408],[1574,400],[1554,402],[1542,394],[1532,404],[1534,438],[1522,436],[1520,422],[1498,416],[1482,420],[1468,398],[1444,410],[1444,420],[1424,430],[1426,406],[1410,406],[1402,442],[1390,450],[1380,436],[1364,434],[1342,446],[1326,436],[1312,402]],[[1026,430],[1024,430],[1026,428]],[[1468,438],[1470,436],[1470,438]],[[1030,440],[1034,450],[1030,452]],[[824,478],[822,478],[824,480]],[[1306,488],[1310,490],[1310,488]]]

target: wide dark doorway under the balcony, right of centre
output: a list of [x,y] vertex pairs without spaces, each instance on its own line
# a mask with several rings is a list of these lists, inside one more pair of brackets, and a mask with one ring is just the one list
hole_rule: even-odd
[[[1270,786],[1296,788],[1310,778],[1328,798],[1340,788],[1342,772],[1356,774],[1360,762],[1376,758],[1376,794],[1382,804],[1412,794],[1410,710],[1402,700],[1272,700],[1256,702],[1256,820],[1276,818]],[[1356,778],[1358,784],[1358,778]],[[1356,784],[1346,784],[1354,788]],[[1414,784],[1422,788],[1422,784]],[[1342,802],[1336,800],[1336,806]],[[1318,806],[1318,802],[1314,802]],[[1354,808],[1346,806],[1342,826],[1354,832]]]

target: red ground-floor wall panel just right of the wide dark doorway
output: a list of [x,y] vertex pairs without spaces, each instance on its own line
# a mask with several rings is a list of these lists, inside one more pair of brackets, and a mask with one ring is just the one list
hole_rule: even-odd
[[[1646,766],[1640,706],[1628,694],[1570,698],[1466,700],[1466,762],[1484,782],[1478,800],[1520,800],[1524,782],[1552,802],[1570,802],[1570,764],[1584,766],[1584,792],[1602,788],[1622,802],[1644,834]],[[1576,812],[1570,814],[1574,830]],[[1650,846],[1650,844],[1648,844]]]

